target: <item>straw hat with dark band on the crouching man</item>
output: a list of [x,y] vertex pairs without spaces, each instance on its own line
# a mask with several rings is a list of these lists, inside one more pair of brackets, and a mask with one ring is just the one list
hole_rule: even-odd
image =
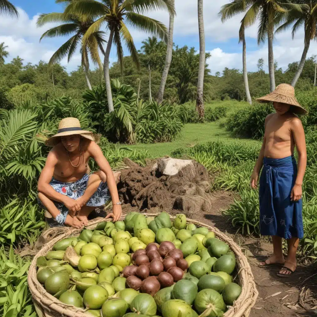
[[45,141],[47,146],[55,146],[61,142],[61,137],[67,135],[81,135],[91,141],[98,142],[99,136],[90,131],[82,130],[78,119],[76,118],[65,118],[60,121],[58,125],[58,131],[55,135],[51,136]]

